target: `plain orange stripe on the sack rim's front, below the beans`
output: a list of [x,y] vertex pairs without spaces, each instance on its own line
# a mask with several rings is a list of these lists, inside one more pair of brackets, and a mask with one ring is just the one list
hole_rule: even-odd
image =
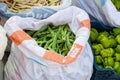
[[48,50],[46,51],[46,53],[44,54],[43,57],[47,60],[51,60],[53,62],[57,62],[60,64],[62,64],[63,59],[64,59],[64,56],[62,56],[58,53],[52,52],[52,51],[48,51]]

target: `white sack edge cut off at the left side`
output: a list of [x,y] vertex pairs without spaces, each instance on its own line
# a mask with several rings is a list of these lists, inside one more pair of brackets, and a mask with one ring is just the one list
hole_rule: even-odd
[[0,25],[0,60],[2,60],[4,56],[6,46],[7,46],[6,32],[3,29],[3,27]]

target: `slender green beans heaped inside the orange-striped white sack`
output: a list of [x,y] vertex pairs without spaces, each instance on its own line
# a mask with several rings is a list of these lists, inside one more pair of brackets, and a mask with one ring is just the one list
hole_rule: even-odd
[[67,24],[43,26],[38,31],[26,31],[39,46],[66,56],[75,40],[75,35]]

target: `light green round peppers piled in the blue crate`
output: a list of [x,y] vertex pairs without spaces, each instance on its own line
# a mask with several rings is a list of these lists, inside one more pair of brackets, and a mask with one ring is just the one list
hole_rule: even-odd
[[90,40],[99,68],[111,68],[120,74],[120,28],[99,32],[91,28]]

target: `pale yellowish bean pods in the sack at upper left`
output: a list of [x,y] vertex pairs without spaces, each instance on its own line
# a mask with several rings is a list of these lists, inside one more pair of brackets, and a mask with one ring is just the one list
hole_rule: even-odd
[[0,0],[8,5],[12,12],[18,13],[33,6],[56,6],[61,0]]

